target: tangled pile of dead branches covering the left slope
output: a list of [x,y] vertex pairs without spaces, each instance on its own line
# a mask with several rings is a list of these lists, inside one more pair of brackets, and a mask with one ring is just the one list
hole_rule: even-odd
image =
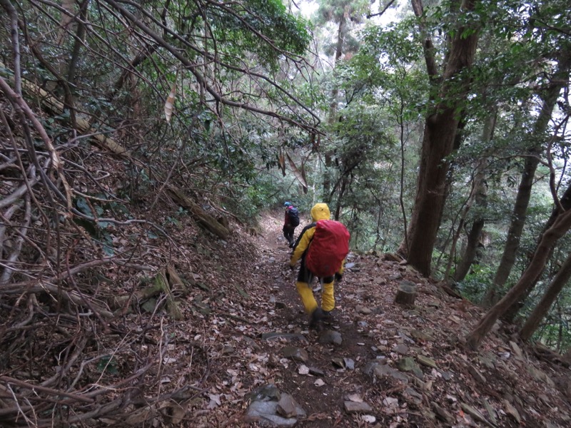
[[[46,118],[2,78],[0,94],[0,425],[175,418],[171,407],[201,394],[206,374],[161,387],[168,327],[138,311],[152,295],[157,309],[181,317],[182,280],[166,264],[171,249],[148,240],[168,236],[131,218],[117,196],[128,189],[105,172],[107,156],[69,128],[51,138]],[[131,273],[121,289],[133,291],[115,306],[118,270]],[[145,294],[149,273],[154,287]]]

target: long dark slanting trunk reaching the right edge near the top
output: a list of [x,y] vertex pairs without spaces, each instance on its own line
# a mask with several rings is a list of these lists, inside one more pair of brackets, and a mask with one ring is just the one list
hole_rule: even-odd
[[[569,80],[569,68],[571,63],[571,55],[565,51],[559,59],[557,72],[551,78],[550,86],[544,94],[542,94],[543,103],[539,116],[535,121],[535,126],[532,135],[538,140],[542,140],[542,135],[549,126],[549,121],[553,112],[555,103],[562,88],[567,85]],[[520,238],[522,235],[523,226],[527,217],[527,206],[530,203],[530,195],[533,182],[535,180],[535,170],[540,162],[540,153],[542,152],[541,146],[536,146],[530,149],[528,157],[525,159],[525,166],[522,172],[522,178],[519,188],[517,188],[517,196],[515,198],[515,205],[512,213],[512,223],[507,232],[507,240],[505,243],[504,252],[500,265],[494,277],[494,282],[484,297],[482,302],[485,306],[495,304],[499,299],[499,292],[505,285],[507,277],[510,276],[512,267],[515,263],[517,250],[520,247]]]

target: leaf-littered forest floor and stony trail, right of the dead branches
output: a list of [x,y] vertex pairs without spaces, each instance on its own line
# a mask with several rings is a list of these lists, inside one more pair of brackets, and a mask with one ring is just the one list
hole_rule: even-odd
[[[281,219],[266,215],[258,233],[236,228],[227,242],[184,234],[192,262],[182,273],[194,286],[163,376],[197,393],[171,409],[176,426],[571,426],[568,361],[501,324],[478,352],[465,350],[483,310],[382,255],[348,256],[333,321],[308,330]],[[394,302],[403,280],[417,286],[414,307]],[[276,390],[303,411],[288,413],[290,401],[290,417],[255,422],[251,403],[275,404]]]

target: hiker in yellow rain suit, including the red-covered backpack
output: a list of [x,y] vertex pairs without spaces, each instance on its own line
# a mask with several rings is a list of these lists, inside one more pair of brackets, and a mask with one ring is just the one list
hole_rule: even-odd
[[[313,328],[320,327],[320,322],[324,317],[328,317],[335,307],[333,282],[343,278],[350,235],[342,223],[329,220],[327,204],[315,204],[310,214],[313,223],[305,226],[295,241],[290,268],[293,270],[295,263],[301,260],[295,287],[298,289],[305,312],[310,315],[309,327]],[[323,281],[321,307],[315,301],[310,287],[314,277]]]

